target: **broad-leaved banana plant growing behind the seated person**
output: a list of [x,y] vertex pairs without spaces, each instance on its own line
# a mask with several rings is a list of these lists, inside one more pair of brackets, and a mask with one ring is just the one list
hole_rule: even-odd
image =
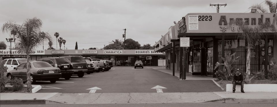
[[[224,65],[223,70],[218,70],[220,72],[223,72],[224,77],[226,80],[230,80],[232,77],[232,70],[234,70],[233,63],[239,61],[240,57],[236,57],[236,52],[233,54],[225,54],[225,58],[221,57],[221,59],[224,61],[224,63],[216,62],[216,66],[214,67],[214,70],[219,67],[220,65]],[[226,69],[225,69],[226,67]]]

